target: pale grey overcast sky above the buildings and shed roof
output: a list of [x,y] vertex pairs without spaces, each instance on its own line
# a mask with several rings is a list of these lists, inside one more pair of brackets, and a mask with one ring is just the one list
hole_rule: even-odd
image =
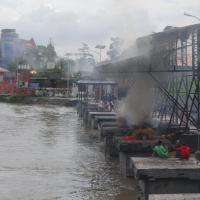
[[37,44],[52,38],[64,55],[82,42],[94,48],[111,36],[132,41],[167,25],[198,23],[184,11],[200,16],[200,0],[0,0],[0,28],[16,28]]

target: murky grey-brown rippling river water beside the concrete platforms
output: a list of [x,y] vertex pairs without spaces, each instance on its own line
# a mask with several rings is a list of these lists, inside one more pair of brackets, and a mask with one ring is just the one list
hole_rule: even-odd
[[0,109],[0,199],[132,196],[132,181],[120,179],[117,161],[105,161],[102,144],[83,129],[73,108],[0,104]]

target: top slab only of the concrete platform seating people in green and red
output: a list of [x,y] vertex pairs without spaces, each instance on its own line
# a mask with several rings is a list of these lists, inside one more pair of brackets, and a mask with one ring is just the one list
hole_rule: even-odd
[[157,157],[132,157],[134,175],[146,178],[189,178],[200,180],[200,164],[195,158],[180,160],[177,158],[161,159]]

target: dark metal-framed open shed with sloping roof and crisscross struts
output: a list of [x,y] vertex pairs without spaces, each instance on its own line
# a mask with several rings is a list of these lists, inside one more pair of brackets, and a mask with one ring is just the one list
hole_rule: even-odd
[[154,117],[184,131],[200,129],[200,24],[167,27],[137,39],[139,56],[97,67],[104,77],[134,83],[148,73],[157,83]]

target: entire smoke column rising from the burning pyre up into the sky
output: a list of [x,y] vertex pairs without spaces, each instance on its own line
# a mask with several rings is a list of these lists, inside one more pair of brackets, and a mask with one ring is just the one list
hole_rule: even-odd
[[[152,24],[151,17],[149,16],[147,4],[148,2],[145,0],[113,0],[112,5],[113,10],[116,11],[114,15],[115,18],[113,18],[113,24],[116,25],[116,27],[113,29],[118,36],[125,41],[125,50],[121,59],[133,58],[138,55],[142,55],[146,59],[146,63],[143,63],[141,57],[138,64],[137,61],[132,62],[131,60],[130,62],[127,60],[127,62],[119,64],[121,66],[115,64],[115,67],[119,69],[119,71],[118,77],[115,78],[113,76],[113,79],[119,83],[124,82],[124,80],[128,80],[127,82],[129,82],[128,96],[120,103],[119,115],[126,118],[127,122],[131,125],[141,125],[143,123],[151,124],[151,115],[155,102],[154,88],[156,83],[149,73],[136,73],[135,75],[130,73],[126,74],[126,77],[124,77],[124,74],[121,72],[132,70],[148,71],[151,64],[152,70],[158,70],[164,66],[159,59],[157,63],[150,59],[152,58],[150,55],[152,50],[151,37],[136,44],[136,39],[138,37],[149,35],[155,30],[155,26]],[[155,60],[157,60],[157,58]],[[117,69],[113,70],[116,71]]]

